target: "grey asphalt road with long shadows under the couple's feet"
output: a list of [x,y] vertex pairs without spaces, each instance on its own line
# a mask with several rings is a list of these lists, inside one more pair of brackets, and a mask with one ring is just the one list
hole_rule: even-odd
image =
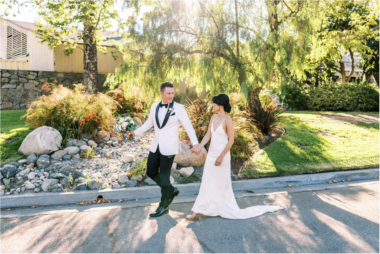
[[379,252],[379,184],[237,203],[285,209],[245,220],[188,220],[193,203],[172,204],[156,219],[148,216],[155,206],[3,218],[0,252]]

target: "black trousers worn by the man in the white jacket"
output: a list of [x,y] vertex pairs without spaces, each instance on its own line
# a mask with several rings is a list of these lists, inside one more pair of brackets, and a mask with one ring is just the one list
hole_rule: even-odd
[[[169,193],[174,191],[170,183],[170,171],[173,165],[175,155],[162,155],[160,147],[157,147],[155,153],[149,151],[146,174],[161,187],[160,206],[169,206]],[[158,172],[159,170],[159,172]]]

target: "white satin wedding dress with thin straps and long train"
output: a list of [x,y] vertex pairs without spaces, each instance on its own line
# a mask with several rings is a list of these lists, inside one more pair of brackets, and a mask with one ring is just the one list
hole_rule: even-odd
[[223,152],[228,143],[228,136],[221,127],[222,124],[214,131],[213,123],[211,123],[211,143],[206,162],[204,163],[201,187],[192,211],[207,216],[220,215],[227,219],[247,219],[259,216],[265,212],[283,209],[281,206],[239,208],[231,185],[230,151],[226,153],[222,164],[215,166],[215,160]]

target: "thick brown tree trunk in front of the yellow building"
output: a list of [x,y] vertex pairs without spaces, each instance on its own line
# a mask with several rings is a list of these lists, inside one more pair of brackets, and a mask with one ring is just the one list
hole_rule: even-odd
[[87,92],[100,92],[101,85],[98,83],[98,54],[93,35],[95,27],[84,24],[83,36],[83,83],[87,86]]

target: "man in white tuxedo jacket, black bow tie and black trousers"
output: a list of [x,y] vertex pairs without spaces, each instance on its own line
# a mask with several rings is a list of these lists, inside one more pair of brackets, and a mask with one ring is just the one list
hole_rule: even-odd
[[[169,213],[169,204],[179,194],[179,190],[170,184],[170,171],[174,156],[182,152],[179,142],[179,126],[182,124],[193,144],[196,153],[201,151],[198,139],[190,122],[184,105],[173,101],[174,86],[162,83],[160,87],[162,100],[150,107],[149,117],[140,128],[128,131],[127,136],[140,136],[154,126],[154,138],[146,166],[146,174],[161,187],[161,202],[150,217],[158,217]],[[158,171],[159,170],[159,171]]]

